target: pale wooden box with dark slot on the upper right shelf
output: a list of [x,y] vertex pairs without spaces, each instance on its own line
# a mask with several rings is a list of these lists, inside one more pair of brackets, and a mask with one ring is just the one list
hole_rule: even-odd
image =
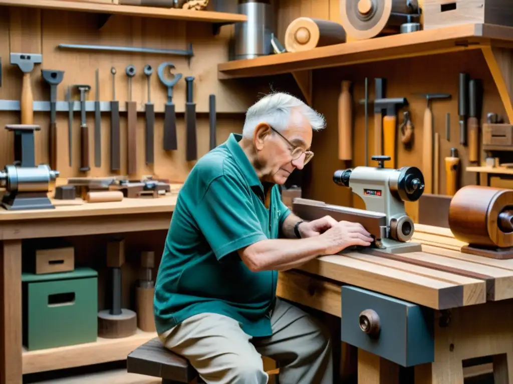
[[513,26],[509,0],[424,0],[424,29],[467,23]]

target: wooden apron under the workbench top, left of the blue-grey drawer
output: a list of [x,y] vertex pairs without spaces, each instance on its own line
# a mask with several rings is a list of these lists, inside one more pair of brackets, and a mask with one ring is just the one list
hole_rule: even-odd
[[294,271],[278,274],[277,296],[338,317],[342,313],[340,292],[340,285],[322,278]]

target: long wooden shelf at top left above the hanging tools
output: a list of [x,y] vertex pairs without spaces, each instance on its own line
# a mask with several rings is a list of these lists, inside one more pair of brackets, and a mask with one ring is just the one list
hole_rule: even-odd
[[0,0],[0,5],[104,13],[112,15],[168,18],[220,24],[245,22],[247,20],[246,15],[237,13],[85,3],[66,0]]

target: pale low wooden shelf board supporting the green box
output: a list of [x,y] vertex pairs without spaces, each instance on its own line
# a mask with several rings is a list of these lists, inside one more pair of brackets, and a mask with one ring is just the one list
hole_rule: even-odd
[[52,371],[81,367],[109,361],[124,360],[127,355],[148,340],[157,337],[154,332],[137,333],[124,338],[101,338],[96,343],[41,349],[23,350],[23,373]]

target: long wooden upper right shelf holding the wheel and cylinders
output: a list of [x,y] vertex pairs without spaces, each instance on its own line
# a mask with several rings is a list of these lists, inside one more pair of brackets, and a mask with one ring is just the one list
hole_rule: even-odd
[[489,24],[464,24],[351,41],[305,52],[286,52],[218,65],[218,78],[257,77],[295,71],[425,56],[483,47],[513,47],[513,28]]

